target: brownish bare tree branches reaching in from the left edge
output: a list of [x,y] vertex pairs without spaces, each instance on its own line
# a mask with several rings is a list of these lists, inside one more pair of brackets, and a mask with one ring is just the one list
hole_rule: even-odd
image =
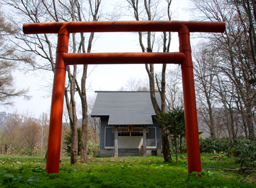
[[0,11],[0,104],[12,105],[13,97],[24,97],[30,99],[27,95],[28,89],[17,90],[13,76],[11,75],[20,62],[31,62],[30,56],[21,54],[11,46],[9,38],[17,34],[18,30],[11,23],[8,23],[2,11]]

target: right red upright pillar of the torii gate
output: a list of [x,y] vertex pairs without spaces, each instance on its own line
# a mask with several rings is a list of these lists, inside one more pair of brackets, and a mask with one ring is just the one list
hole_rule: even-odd
[[187,140],[187,164],[189,174],[193,171],[201,172],[199,133],[197,124],[197,106],[195,103],[195,83],[193,75],[193,62],[191,57],[191,47],[189,39],[189,29],[187,26],[181,26],[179,30],[179,50],[187,60],[181,64],[181,73],[183,81],[183,97],[185,111],[185,127]]

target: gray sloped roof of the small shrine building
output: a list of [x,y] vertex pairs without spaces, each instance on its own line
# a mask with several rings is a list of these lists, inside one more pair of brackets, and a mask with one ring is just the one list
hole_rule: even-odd
[[[96,91],[91,116],[109,115],[108,125],[150,125],[156,115],[150,91]],[[160,94],[156,92],[160,104]]]

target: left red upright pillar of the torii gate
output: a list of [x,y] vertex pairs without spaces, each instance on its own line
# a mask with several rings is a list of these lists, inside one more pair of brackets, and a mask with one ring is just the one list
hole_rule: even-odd
[[49,139],[47,148],[46,171],[59,173],[59,158],[61,153],[61,130],[67,65],[61,55],[68,52],[69,32],[65,26],[59,30],[56,63],[53,79],[53,94]]

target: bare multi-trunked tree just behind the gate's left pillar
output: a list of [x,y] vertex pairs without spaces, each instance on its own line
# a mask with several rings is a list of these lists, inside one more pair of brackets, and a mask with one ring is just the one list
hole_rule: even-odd
[[[9,1],[4,0],[3,3],[13,9],[15,15],[12,15],[13,22],[21,30],[21,24],[26,22],[39,23],[51,21],[97,21],[99,19],[100,0],[95,1]],[[17,17],[16,15],[20,15]],[[19,22],[20,21],[20,22]],[[18,48],[33,52],[41,59],[40,63],[35,63],[29,66],[28,70],[46,70],[53,71],[55,67],[55,48],[56,44],[51,41],[57,41],[56,35],[42,34],[42,35],[16,35],[15,38],[22,40],[23,44],[18,45]],[[81,53],[86,52],[86,44],[88,51],[91,51],[94,34],[86,37],[86,34],[71,34],[69,42],[70,52]],[[88,39],[88,41],[86,41]],[[77,66],[67,66],[68,83],[65,87],[65,101],[67,111],[69,114],[69,123],[72,131],[72,149],[71,149],[71,163],[77,163],[77,105],[75,101],[75,91],[78,91],[80,99],[82,100],[83,111],[83,146],[82,146],[82,162],[87,162],[86,152],[86,132],[88,132],[88,115],[86,104],[86,77],[88,66],[85,65],[83,75],[81,78],[81,85],[78,84]]]

